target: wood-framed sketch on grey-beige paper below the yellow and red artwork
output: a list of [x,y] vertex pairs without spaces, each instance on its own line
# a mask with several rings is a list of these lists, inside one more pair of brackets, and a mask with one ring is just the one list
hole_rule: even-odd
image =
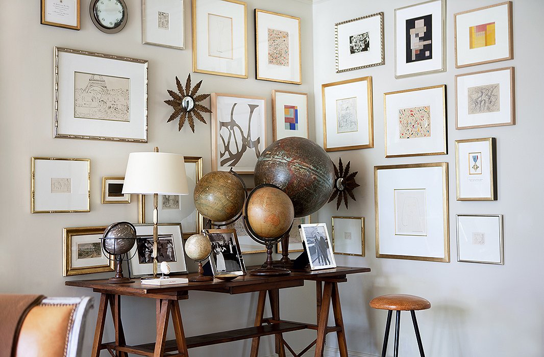
[[455,128],[514,125],[514,67],[455,76]]

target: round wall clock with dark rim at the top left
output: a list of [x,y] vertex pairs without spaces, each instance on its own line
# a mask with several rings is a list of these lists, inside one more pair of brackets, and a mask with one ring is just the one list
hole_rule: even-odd
[[89,7],[92,23],[107,34],[114,34],[127,24],[125,0],[91,0]]

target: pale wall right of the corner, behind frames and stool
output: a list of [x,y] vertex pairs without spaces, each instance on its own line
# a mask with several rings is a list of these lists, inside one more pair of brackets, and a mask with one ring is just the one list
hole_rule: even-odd
[[[541,59],[544,50],[537,41],[544,30],[539,0],[514,1],[514,60],[456,69],[454,63],[453,14],[497,3],[494,0],[447,2],[447,72],[407,79],[394,78],[394,9],[417,3],[411,0],[345,1],[314,3],[314,97],[316,141],[323,142],[321,85],[338,80],[372,76],[374,102],[374,148],[331,153],[333,161],[359,171],[357,202],[349,210],[329,204],[319,218],[330,224],[332,215],[366,217],[366,258],[336,256],[337,264],[368,266],[372,273],[350,277],[341,285],[348,349],[357,355],[379,355],[386,312],[368,308],[374,296],[409,293],[430,300],[432,308],[418,316],[426,355],[524,356],[544,355],[542,250],[538,222],[542,216],[541,152],[544,123],[540,109]],[[367,70],[335,73],[334,24],[352,18],[385,12],[386,64]],[[537,41],[537,42],[535,42]],[[539,43],[535,45],[536,43]],[[516,119],[509,127],[455,130],[455,74],[515,66]],[[446,84],[448,155],[384,158],[383,93]],[[454,142],[458,139],[497,138],[498,201],[455,201]],[[449,162],[450,263],[375,258],[373,166]],[[457,262],[455,214],[504,215],[504,266]],[[416,356],[417,345],[410,321],[403,314],[400,355]],[[393,331],[391,332],[393,334]],[[392,355],[392,340],[388,354]],[[332,336],[327,346],[337,346]],[[358,352],[358,353],[357,353]],[[350,354],[351,355],[351,354]]]

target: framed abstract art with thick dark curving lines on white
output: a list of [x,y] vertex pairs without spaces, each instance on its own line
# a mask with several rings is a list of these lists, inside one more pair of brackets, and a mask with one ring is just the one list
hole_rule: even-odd
[[212,170],[252,174],[266,145],[266,99],[212,93]]

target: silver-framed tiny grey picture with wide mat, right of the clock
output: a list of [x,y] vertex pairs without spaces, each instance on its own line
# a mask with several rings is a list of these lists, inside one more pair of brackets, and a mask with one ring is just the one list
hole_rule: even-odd
[[185,48],[183,0],[141,0],[141,43]]

